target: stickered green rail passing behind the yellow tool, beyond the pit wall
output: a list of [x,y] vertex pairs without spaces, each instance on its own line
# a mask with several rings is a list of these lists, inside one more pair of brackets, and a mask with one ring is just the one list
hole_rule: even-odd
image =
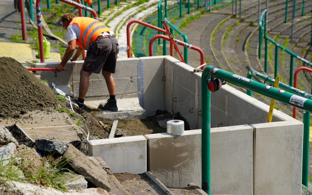
[[[253,76],[253,77],[256,77],[260,80],[266,80],[267,83],[271,84],[271,85],[274,85],[274,82],[275,82],[275,79],[273,79],[272,77],[269,77],[269,76],[266,76],[258,71],[255,71],[255,70],[249,70],[248,71],[248,74]],[[248,78],[248,77],[247,77]],[[293,93],[295,95],[299,95],[301,97],[304,97],[304,98],[307,98],[307,99],[311,99],[312,100],[312,95],[305,92],[305,91],[301,91],[295,87],[292,87],[290,85],[287,85],[283,82],[280,81],[279,85],[278,85],[278,88],[282,89],[282,90],[285,90],[285,91],[288,91],[290,93]],[[282,93],[282,91],[280,92]]]

